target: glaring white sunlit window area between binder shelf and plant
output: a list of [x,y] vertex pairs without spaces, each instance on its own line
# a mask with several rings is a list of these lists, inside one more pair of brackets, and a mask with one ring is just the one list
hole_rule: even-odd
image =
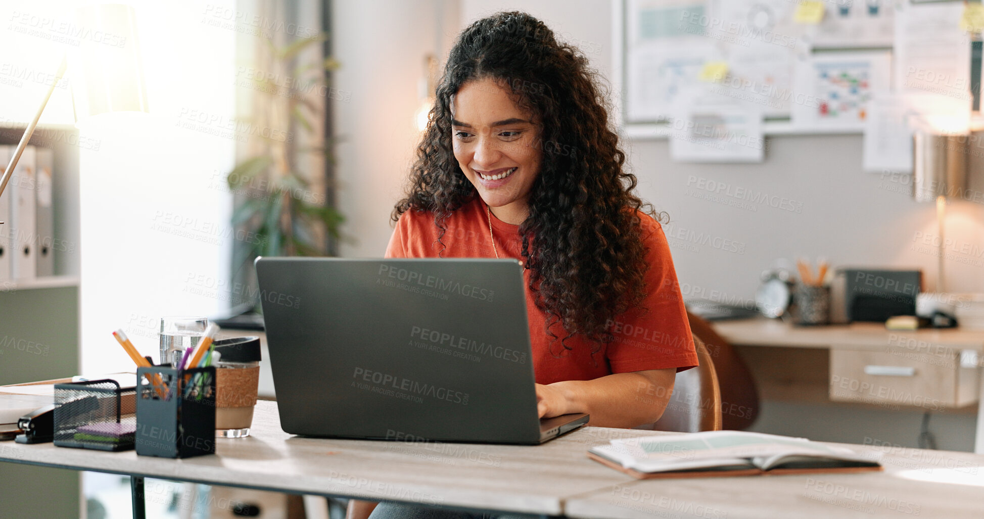
[[235,234],[224,173],[235,145],[236,32],[209,24],[216,11],[195,0],[136,9],[151,113],[82,126],[99,142],[81,153],[86,373],[133,369],[110,335],[117,328],[156,358],[160,316],[215,316],[228,307],[222,289]]

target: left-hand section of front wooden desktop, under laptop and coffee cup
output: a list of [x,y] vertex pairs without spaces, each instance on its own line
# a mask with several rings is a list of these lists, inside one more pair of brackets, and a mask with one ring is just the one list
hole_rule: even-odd
[[[650,431],[651,433],[651,431]],[[0,443],[0,460],[226,487],[561,515],[564,500],[632,480],[586,457],[632,429],[587,427],[540,446],[407,443],[292,436],[275,402],[257,403],[252,436],[217,439],[182,460]]]

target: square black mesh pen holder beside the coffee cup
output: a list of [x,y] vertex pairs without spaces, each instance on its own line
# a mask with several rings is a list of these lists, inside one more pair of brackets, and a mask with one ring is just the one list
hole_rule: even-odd
[[137,454],[215,454],[215,367],[141,367],[137,382]]

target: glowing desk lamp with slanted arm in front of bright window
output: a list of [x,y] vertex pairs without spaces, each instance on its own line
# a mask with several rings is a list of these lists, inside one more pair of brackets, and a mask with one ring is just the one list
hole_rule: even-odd
[[[81,27],[103,34],[98,41],[84,38],[79,45],[78,70],[82,79],[79,91],[73,84],[75,118],[111,111],[148,111],[144,70],[139,59],[137,19],[133,7],[121,4],[92,5],[80,8],[76,16]],[[51,98],[55,86],[65,75],[68,59],[62,58],[54,81],[37,108],[34,118],[21,137],[7,168],[0,177],[0,196],[14,174],[14,167],[31,141],[31,135],[41,113]],[[0,219],[4,216],[0,215]],[[3,224],[0,221],[0,224]]]

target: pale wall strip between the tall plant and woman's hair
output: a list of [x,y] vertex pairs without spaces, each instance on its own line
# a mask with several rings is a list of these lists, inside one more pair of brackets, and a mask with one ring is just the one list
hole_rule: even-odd
[[393,232],[390,212],[419,141],[414,112],[424,56],[447,53],[459,31],[457,2],[367,0],[333,2],[333,54],[341,63],[335,87],[340,139],[338,207],[347,236],[340,255],[382,256]]

